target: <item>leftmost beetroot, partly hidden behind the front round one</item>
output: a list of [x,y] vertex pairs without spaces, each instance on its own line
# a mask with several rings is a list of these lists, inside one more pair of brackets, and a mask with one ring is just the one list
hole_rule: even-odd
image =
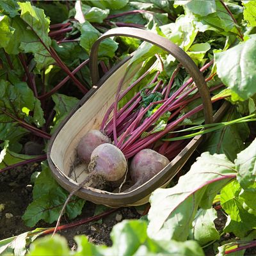
[[99,130],[88,131],[79,141],[77,146],[77,155],[84,163],[90,163],[93,150],[103,143],[111,143],[108,136],[104,135]]

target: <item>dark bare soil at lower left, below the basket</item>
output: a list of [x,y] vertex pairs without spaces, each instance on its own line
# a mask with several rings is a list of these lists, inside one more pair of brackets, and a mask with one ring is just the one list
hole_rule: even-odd
[[[40,221],[36,227],[29,228],[24,225],[22,215],[32,202],[31,174],[40,171],[40,164],[30,164],[13,170],[0,173],[0,240],[17,236],[36,227],[54,227],[56,223],[45,223]],[[83,220],[94,215],[96,205],[86,202],[82,214],[72,221]],[[89,241],[95,244],[111,245],[109,233],[116,223],[124,219],[140,218],[140,214],[134,207],[122,207],[117,209],[102,221],[93,221],[77,227],[61,230],[60,234],[68,240],[70,248],[74,248],[73,237],[84,234]],[[61,225],[72,222],[62,218]]]

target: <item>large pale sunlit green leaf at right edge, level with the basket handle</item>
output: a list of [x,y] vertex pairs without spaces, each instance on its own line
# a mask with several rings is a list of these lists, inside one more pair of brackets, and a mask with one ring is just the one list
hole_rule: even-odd
[[252,38],[224,52],[214,53],[221,81],[243,99],[256,93],[256,41]]

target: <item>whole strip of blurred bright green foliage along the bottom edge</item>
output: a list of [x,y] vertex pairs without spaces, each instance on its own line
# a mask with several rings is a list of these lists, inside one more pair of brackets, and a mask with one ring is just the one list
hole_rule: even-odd
[[[140,233],[139,233],[140,232]],[[29,256],[40,255],[180,255],[204,256],[202,248],[195,241],[154,241],[147,237],[147,223],[141,220],[125,220],[111,231],[113,246],[95,245],[86,236],[76,236],[77,250],[70,251],[67,241],[60,235],[36,239],[29,248]]]

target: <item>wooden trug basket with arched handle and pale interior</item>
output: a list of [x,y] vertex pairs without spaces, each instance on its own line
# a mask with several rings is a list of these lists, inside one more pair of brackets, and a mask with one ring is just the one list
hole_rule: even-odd
[[[83,99],[77,104],[72,113],[62,122],[58,130],[53,134],[49,143],[47,158],[52,170],[52,174],[57,182],[67,191],[78,188],[79,182],[83,181],[86,173],[83,172],[83,164],[74,168],[70,176],[70,167],[76,158],[76,147],[81,137],[90,129],[99,129],[102,118],[106,110],[115,100],[118,82],[123,77],[125,69],[129,63],[129,58],[123,60],[107,74],[99,79],[97,69],[97,52],[99,44],[110,36],[130,36],[155,44],[166,52],[172,54],[181,65],[186,68],[195,81],[202,102],[204,104],[205,124],[217,121],[225,110],[222,106],[214,120],[212,118],[212,105],[209,90],[198,67],[182,49],[172,44],[170,40],[156,35],[150,31],[135,28],[115,28],[110,29],[93,44],[90,54],[90,71],[93,87]],[[138,67],[140,68],[140,67]],[[132,73],[124,81],[124,88],[128,86],[132,79]],[[166,186],[170,180],[179,172],[180,168],[186,163],[191,154],[203,140],[203,136],[196,136],[188,145],[155,177],[148,180],[145,184],[129,193],[110,193],[99,189],[84,187],[77,191],[76,195],[94,202],[95,204],[109,205],[110,207],[120,207],[127,205],[141,205],[148,202],[152,191],[159,187]],[[70,177],[69,177],[70,176]],[[76,179],[75,179],[76,178]],[[76,181],[75,181],[76,180]]]

